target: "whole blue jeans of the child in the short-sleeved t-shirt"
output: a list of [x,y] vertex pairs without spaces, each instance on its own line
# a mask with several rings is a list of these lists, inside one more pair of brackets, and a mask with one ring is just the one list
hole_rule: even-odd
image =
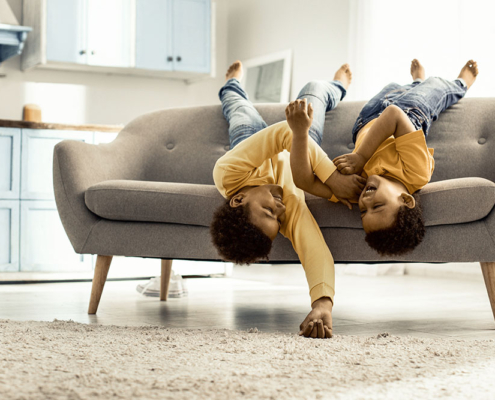
[[352,128],[352,141],[356,143],[359,130],[371,120],[378,118],[389,105],[404,111],[417,130],[423,129],[428,136],[431,123],[438,115],[457,103],[466,94],[467,87],[458,79],[447,81],[431,77],[423,82],[401,86],[390,83],[363,107]]

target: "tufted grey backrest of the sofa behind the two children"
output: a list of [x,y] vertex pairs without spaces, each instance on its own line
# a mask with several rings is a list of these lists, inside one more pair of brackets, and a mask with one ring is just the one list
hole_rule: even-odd
[[[351,152],[351,130],[365,102],[344,101],[326,114],[322,147],[330,158]],[[285,119],[285,104],[256,105],[268,125]],[[433,123],[432,181],[481,177],[495,181],[495,98],[467,98]],[[132,142],[143,158],[144,180],[213,184],[213,166],[229,149],[220,105],[176,108],[142,115],[127,124],[121,145]],[[139,136],[139,140],[125,140]],[[136,143],[138,143],[136,145]],[[115,149],[118,151],[118,149]]]

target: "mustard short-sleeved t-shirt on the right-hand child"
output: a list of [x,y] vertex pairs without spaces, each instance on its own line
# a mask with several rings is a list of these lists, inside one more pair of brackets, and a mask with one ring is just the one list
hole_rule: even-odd
[[[353,153],[359,149],[375,121],[376,118],[361,128]],[[408,192],[413,194],[425,187],[431,179],[435,168],[433,152],[434,150],[426,145],[422,129],[397,139],[390,136],[368,160],[361,176],[390,176],[402,182]],[[335,196],[332,196],[331,200],[338,201]]]

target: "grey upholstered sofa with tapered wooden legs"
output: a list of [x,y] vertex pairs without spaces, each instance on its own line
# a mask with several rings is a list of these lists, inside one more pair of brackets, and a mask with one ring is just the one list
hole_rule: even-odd
[[[322,147],[333,158],[353,148],[351,129],[364,102],[327,113]],[[270,125],[285,105],[258,105]],[[54,150],[58,212],[80,254],[97,254],[90,313],[95,313],[112,256],[162,259],[166,299],[171,260],[219,260],[209,223],[222,197],[216,160],[229,148],[220,105],[152,112],[109,144],[64,140]],[[412,253],[381,258],[364,241],[359,210],[308,195],[336,262],[481,262],[495,316],[495,98],[463,99],[441,114],[428,144],[433,180],[421,191],[426,237]],[[270,262],[298,263],[279,235]]]

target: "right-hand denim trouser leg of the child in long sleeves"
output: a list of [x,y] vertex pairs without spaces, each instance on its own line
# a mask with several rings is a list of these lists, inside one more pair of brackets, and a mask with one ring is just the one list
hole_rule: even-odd
[[318,145],[323,138],[325,113],[337,107],[347,91],[339,81],[311,81],[299,92],[298,99],[307,99],[313,105],[313,123],[309,128],[309,136]]

